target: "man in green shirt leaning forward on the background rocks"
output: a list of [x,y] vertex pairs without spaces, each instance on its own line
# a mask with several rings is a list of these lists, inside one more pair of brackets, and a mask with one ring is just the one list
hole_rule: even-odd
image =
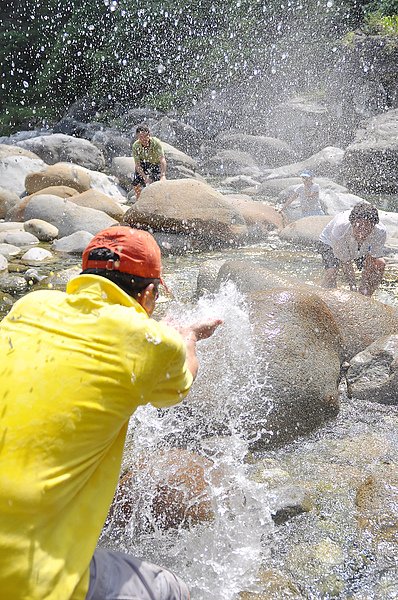
[[167,163],[160,140],[151,136],[146,125],[139,125],[136,135],[137,140],[133,144],[135,162],[133,186],[138,200],[145,186],[166,179]]

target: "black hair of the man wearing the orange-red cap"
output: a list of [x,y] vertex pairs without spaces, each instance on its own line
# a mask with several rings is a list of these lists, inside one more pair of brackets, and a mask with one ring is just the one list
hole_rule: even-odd
[[[112,252],[108,248],[95,248],[91,250],[88,255],[88,260],[103,260],[104,262],[119,260],[119,255],[116,252]],[[151,283],[154,284],[155,290],[160,283],[160,279],[139,277],[138,275],[132,275],[131,273],[123,273],[117,269],[84,269],[81,275],[99,275],[105,279],[109,279],[117,286],[119,286],[126,294],[137,299],[141,292]]]

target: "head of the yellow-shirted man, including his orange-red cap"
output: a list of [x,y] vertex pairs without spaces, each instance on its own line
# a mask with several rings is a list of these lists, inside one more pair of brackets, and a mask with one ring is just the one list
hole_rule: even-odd
[[141,304],[148,315],[155,308],[162,281],[160,248],[142,229],[119,225],[97,233],[83,252],[82,274],[100,275]]

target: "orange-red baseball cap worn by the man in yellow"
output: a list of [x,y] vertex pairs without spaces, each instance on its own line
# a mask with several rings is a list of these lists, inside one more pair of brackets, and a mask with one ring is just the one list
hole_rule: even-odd
[[[91,260],[90,252],[107,248],[119,256],[119,260]],[[83,252],[83,271],[86,269],[112,269],[121,273],[137,275],[146,279],[160,279],[163,283],[160,248],[155,238],[142,229],[127,226],[109,227],[99,231]]]

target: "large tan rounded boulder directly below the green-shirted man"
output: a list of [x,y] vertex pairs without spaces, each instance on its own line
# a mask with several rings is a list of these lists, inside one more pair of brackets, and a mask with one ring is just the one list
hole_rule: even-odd
[[222,194],[193,179],[147,186],[124,221],[132,227],[198,238],[209,248],[233,243],[246,233],[243,217]]

